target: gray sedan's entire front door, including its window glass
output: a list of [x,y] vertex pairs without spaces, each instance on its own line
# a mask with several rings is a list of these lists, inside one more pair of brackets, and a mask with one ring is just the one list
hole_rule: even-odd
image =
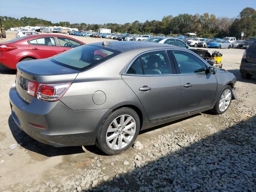
[[207,66],[199,56],[187,51],[172,51],[181,83],[179,114],[187,114],[212,106],[217,80],[206,74]]

